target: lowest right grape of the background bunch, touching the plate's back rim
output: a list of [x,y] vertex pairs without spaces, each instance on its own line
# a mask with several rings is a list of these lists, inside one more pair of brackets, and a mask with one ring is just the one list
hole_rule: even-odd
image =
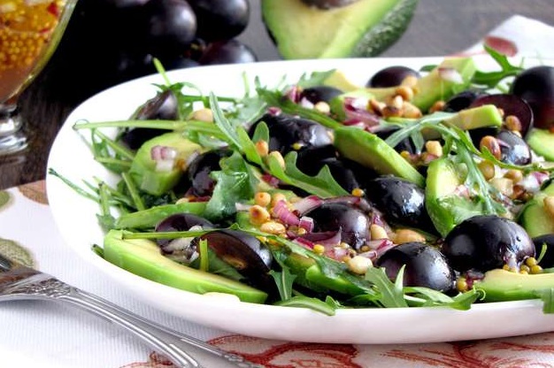
[[210,43],[198,59],[200,65],[242,64],[258,61],[254,51],[233,39]]

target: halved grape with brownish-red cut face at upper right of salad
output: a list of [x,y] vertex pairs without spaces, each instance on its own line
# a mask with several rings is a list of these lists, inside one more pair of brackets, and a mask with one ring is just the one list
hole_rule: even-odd
[[482,106],[484,104],[494,104],[497,108],[504,111],[504,117],[515,116],[521,123],[521,136],[525,137],[529,129],[533,127],[534,115],[531,106],[519,96],[510,94],[486,95],[476,98],[469,107]]

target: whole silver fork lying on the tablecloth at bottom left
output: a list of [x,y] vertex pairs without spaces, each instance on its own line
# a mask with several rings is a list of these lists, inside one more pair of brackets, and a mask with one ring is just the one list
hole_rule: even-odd
[[65,302],[105,318],[138,336],[178,367],[263,368],[262,365],[253,364],[204,341],[160,326],[99,296],[0,255],[0,301],[26,299]]

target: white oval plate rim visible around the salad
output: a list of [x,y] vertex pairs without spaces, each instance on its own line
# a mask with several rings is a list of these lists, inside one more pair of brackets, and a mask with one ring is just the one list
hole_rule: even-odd
[[[290,80],[302,73],[336,68],[364,85],[371,74],[389,65],[437,64],[442,58],[327,59],[260,62],[252,65],[217,65],[168,73],[173,82],[189,81],[216,96],[242,96],[243,73],[253,80],[274,86],[287,75]],[[491,67],[489,58],[479,59],[482,68]],[[48,166],[74,183],[98,177],[114,183],[116,178],[93,159],[83,137],[72,126],[81,119],[104,121],[127,119],[135,108],[154,96],[152,83],[163,84],[160,75],[132,80],[105,90],[77,107],[61,128],[50,152]],[[473,305],[470,311],[447,308],[340,310],[329,317],[321,313],[272,305],[242,303],[213,295],[196,295],[142,279],[96,256],[92,244],[103,242],[96,221],[96,203],[75,193],[61,180],[48,175],[50,208],[65,242],[84,260],[109,275],[116,285],[144,303],[206,326],[237,334],[287,341],[333,343],[405,343],[486,339],[554,329],[554,315],[542,313],[540,301]]]

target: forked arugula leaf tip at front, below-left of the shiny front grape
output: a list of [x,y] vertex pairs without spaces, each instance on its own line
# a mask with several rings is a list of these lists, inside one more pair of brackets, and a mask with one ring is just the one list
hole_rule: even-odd
[[370,267],[365,272],[365,280],[375,285],[375,288],[381,293],[378,303],[385,308],[403,308],[408,304],[404,300],[402,291],[402,280],[404,277],[404,266],[398,271],[396,282],[389,280],[385,269],[381,267]]

